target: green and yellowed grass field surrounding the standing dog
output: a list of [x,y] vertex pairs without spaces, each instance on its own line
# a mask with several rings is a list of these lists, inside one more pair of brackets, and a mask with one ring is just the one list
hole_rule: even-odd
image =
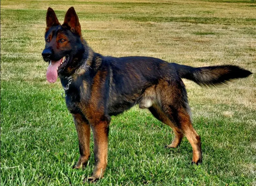
[[[82,34],[103,55],[143,55],[192,66],[235,64],[247,79],[221,88],[184,80],[203,163],[147,110],[112,117],[105,178],[91,185],[256,185],[256,3],[239,0],[1,0],[1,186],[87,185],[59,80],[46,81],[48,6],[62,23],[74,6]],[[92,137],[91,137],[92,139]],[[91,142],[91,151],[93,144]],[[90,184],[89,184],[90,185]]]

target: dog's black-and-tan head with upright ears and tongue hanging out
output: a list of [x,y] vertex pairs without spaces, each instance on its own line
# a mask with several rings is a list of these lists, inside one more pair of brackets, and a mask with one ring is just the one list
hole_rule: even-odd
[[58,74],[67,74],[76,66],[77,59],[85,51],[81,26],[74,7],[70,7],[61,25],[50,7],[46,13],[45,49],[43,59],[49,62],[46,72],[48,82],[55,83]]

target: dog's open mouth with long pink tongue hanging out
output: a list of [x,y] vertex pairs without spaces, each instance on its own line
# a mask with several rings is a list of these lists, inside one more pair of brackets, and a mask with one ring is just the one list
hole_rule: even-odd
[[67,65],[69,61],[69,55],[62,57],[58,61],[50,61],[50,64],[46,71],[46,79],[50,83],[55,83],[58,78],[58,73]]

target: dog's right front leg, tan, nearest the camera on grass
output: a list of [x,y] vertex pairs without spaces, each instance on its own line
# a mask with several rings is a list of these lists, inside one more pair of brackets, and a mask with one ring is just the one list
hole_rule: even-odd
[[94,159],[95,169],[89,181],[96,181],[103,177],[107,167],[108,158],[108,129],[110,119],[92,124],[93,140],[94,140]]

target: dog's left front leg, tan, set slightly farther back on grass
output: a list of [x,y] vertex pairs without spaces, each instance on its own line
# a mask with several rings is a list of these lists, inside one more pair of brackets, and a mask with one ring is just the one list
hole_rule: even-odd
[[90,125],[81,114],[73,114],[77,129],[80,157],[74,169],[83,167],[90,157]]

